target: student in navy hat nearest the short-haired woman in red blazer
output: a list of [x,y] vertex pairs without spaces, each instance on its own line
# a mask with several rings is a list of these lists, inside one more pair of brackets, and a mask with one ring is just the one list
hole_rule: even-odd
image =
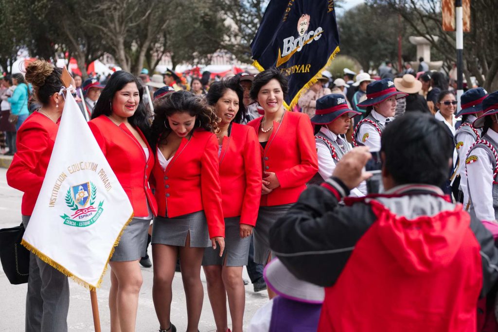
[[[352,146],[342,137],[352,125],[352,118],[361,114],[348,107],[343,94],[331,94],[316,101],[316,115],[311,118],[315,125],[315,142],[318,154],[318,172],[308,184],[321,184],[332,176],[336,164]],[[365,193],[355,188],[352,196],[363,197]]]

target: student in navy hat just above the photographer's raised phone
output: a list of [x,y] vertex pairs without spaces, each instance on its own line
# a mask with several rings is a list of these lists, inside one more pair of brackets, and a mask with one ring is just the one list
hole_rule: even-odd
[[359,103],[360,108],[367,108],[365,118],[358,122],[353,132],[355,145],[366,145],[371,149],[380,149],[380,136],[386,124],[394,119],[396,100],[408,94],[396,90],[394,82],[385,78],[374,81],[367,86],[367,100]]

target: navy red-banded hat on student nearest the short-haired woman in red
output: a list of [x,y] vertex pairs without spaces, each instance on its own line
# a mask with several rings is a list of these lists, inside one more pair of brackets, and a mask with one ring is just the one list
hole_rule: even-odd
[[348,107],[346,97],[341,94],[331,94],[323,96],[316,101],[315,116],[311,118],[313,124],[329,124],[334,122],[343,114],[348,114],[349,117],[361,114],[353,111]]

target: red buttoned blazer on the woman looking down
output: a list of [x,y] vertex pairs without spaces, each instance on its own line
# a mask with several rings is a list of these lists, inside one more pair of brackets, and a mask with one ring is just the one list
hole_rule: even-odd
[[225,237],[216,135],[196,129],[183,138],[166,170],[157,158],[152,171],[158,215],[174,218],[204,210],[209,237]]

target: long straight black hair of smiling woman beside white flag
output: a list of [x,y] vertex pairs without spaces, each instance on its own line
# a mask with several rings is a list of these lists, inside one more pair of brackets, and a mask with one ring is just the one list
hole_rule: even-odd
[[92,119],[99,117],[102,114],[107,116],[111,115],[113,113],[111,110],[111,103],[114,95],[122,90],[128,83],[136,84],[138,95],[140,96],[138,108],[133,115],[128,117],[128,122],[131,123],[131,125],[138,127],[143,134],[147,136],[147,132],[149,132],[150,128],[150,115],[147,113],[142,101],[143,86],[133,74],[123,70],[114,72],[109,81],[107,81],[106,87],[102,90],[99,100],[92,112]]

